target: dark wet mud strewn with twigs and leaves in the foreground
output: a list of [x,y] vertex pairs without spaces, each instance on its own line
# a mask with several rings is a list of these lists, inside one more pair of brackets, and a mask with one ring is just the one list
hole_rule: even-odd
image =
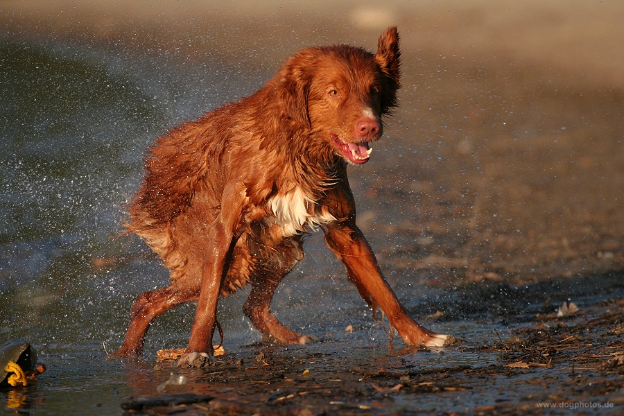
[[[606,279],[618,297],[621,279]],[[434,351],[366,346],[355,336],[308,347],[244,347],[201,370],[157,364],[155,378],[173,371],[187,383],[121,406],[149,415],[616,415],[624,406],[623,306],[607,300],[562,318],[505,315],[523,324],[503,330],[481,321],[475,326],[489,333],[466,333]]]

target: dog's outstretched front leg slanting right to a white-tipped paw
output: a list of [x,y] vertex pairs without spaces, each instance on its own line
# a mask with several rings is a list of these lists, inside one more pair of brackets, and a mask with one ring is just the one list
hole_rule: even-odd
[[406,313],[385,281],[379,263],[357,225],[330,225],[325,232],[325,240],[347,267],[349,280],[357,286],[364,300],[373,310],[376,306],[381,307],[406,344],[427,347],[444,345],[446,335],[425,329]]

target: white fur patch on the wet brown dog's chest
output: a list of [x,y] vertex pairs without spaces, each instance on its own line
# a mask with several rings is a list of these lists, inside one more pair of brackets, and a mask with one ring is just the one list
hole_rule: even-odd
[[317,225],[336,220],[327,209],[322,209],[316,202],[306,198],[298,187],[286,194],[272,196],[267,204],[275,214],[276,222],[281,226],[284,237],[314,231]]

